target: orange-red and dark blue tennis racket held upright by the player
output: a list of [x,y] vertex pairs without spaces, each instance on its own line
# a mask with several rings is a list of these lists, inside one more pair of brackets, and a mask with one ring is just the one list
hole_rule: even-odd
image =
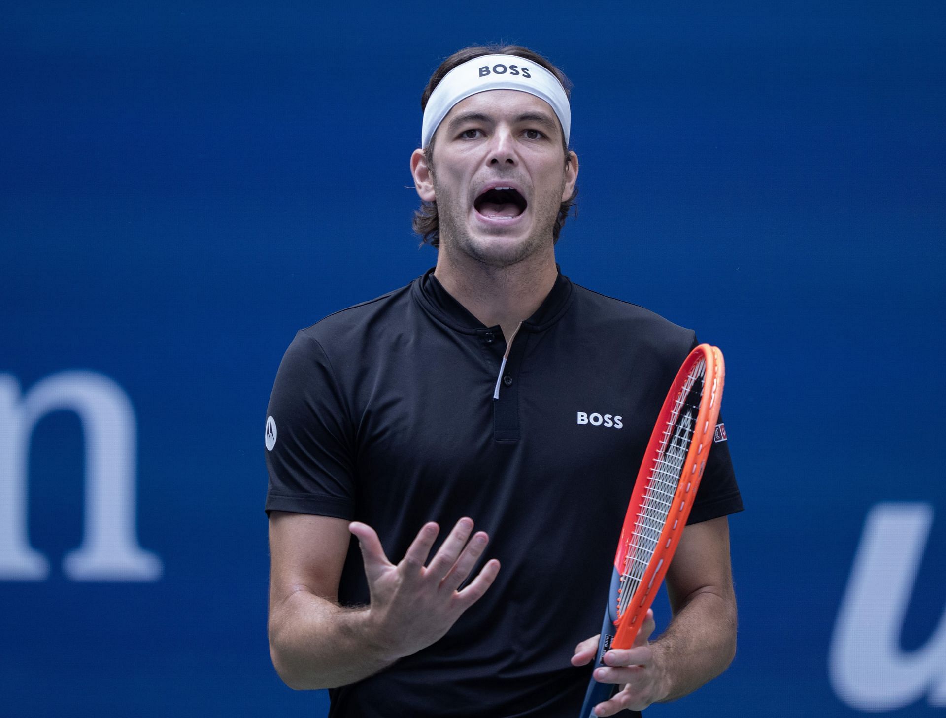
[[[640,463],[627,505],[595,667],[611,648],[630,648],[674,558],[703,477],[723,398],[723,353],[695,347],[676,373]],[[614,693],[614,683],[592,678],[580,718]]]

